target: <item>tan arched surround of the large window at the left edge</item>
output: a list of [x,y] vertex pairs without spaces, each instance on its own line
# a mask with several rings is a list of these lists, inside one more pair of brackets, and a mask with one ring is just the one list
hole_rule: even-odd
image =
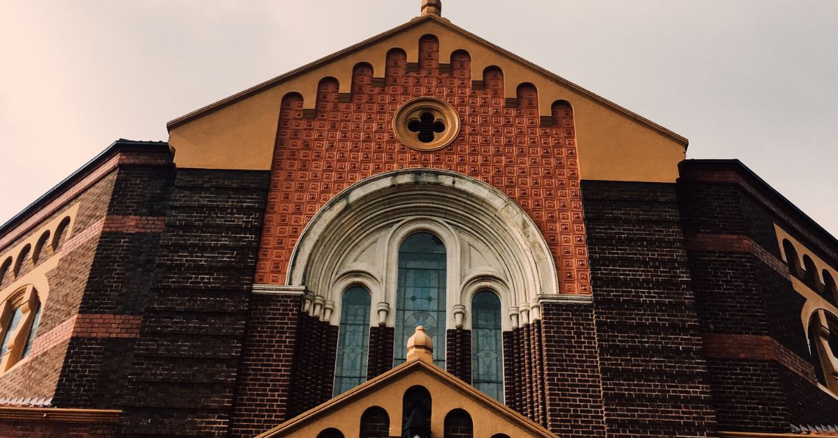
[[[32,285],[23,286],[0,304],[0,339],[8,347],[3,358],[0,358],[0,372],[5,373],[22,358],[39,306],[38,291]],[[8,332],[9,324],[18,309],[23,315],[12,332]]]

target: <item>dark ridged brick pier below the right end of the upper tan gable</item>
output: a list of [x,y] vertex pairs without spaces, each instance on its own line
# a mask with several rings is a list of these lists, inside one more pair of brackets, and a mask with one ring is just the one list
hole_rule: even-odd
[[675,186],[582,182],[608,436],[712,435]]

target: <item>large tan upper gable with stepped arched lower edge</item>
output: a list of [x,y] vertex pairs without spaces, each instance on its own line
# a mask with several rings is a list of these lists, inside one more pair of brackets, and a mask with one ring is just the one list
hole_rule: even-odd
[[439,40],[441,63],[456,50],[468,52],[473,81],[482,80],[487,67],[499,67],[508,99],[515,98],[518,85],[535,85],[542,117],[550,116],[556,100],[569,102],[576,119],[583,179],[673,182],[677,178],[677,163],[685,158],[684,137],[434,15],[415,18],[170,121],[169,144],[176,149],[175,162],[178,167],[270,169],[284,95],[299,93],[304,108],[313,110],[318,84],[327,77],[336,79],[340,93],[349,95],[354,65],[370,64],[374,76],[383,78],[387,52],[403,49],[407,62],[415,63],[418,41],[426,34]]

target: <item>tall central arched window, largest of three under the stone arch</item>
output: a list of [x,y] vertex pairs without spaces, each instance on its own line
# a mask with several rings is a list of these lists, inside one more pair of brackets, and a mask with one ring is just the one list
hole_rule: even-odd
[[407,338],[424,326],[433,340],[433,363],[445,368],[445,245],[430,233],[411,234],[399,247],[393,365],[404,363]]

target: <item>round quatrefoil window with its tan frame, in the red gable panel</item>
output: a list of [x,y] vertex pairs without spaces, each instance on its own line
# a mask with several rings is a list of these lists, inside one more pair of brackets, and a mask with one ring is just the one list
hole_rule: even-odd
[[444,100],[418,97],[396,110],[393,131],[406,146],[433,151],[454,141],[460,131],[460,117]]

